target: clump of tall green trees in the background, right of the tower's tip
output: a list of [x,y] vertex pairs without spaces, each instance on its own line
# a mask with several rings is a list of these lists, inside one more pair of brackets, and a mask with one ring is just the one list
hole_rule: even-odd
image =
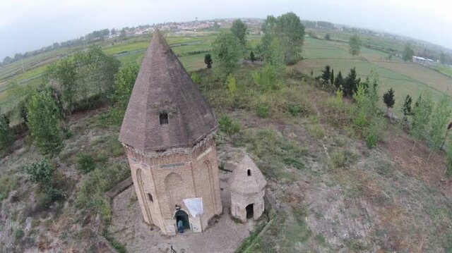
[[278,17],[268,16],[262,30],[261,44],[256,49],[249,49],[246,43],[248,27],[242,20],[234,20],[230,32],[220,33],[213,42],[213,55],[206,54],[207,68],[213,65],[216,75],[225,80],[239,68],[242,58],[249,56],[251,61],[259,58],[265,67],[256,73],[256,80],[266,85],[275,84],[285,73],[285,65],[301,58],[304,26],[295,13],[285,13]]

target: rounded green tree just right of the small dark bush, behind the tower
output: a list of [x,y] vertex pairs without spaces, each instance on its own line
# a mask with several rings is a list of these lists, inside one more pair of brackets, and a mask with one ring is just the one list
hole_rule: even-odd
[[242,49],[239,40],[232,33],[221,32],[212,44],[215,71],[225,78],[239,68]]

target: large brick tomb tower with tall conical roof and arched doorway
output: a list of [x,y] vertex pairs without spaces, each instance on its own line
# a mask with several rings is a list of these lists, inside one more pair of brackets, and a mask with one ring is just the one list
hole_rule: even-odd
[[198,233],[222,212],[216,130],[212,109],[154,32],[119,135],[145,223],[175,235],[182,221]]

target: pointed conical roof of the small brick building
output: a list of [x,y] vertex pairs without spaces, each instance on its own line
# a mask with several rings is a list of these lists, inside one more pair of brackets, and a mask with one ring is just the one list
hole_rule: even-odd
[[267,181],[256,163],[246,154],[232,172],[230,190],[246,195],[261,192],[266,185]]

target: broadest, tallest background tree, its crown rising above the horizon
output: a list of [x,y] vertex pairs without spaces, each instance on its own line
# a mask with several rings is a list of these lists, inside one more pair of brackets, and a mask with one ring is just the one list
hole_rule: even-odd
[[302,57],[304,42],[304,25],[295,13],[285,13],[278,18],[268,16],[262,27],[264,36],[261,49],[265,52],[270,47],[273,37],[280,39],[286,64],[294,64]]

